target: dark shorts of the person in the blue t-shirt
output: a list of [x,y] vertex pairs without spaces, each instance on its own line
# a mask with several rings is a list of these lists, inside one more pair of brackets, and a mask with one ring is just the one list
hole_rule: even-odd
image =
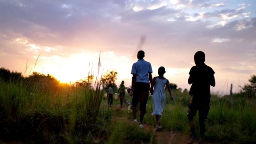
[[149,95],[149,83],[135,82],[132,98],[132,107],[136,107],[140,102],[140,111],[146,111],[146,103]]

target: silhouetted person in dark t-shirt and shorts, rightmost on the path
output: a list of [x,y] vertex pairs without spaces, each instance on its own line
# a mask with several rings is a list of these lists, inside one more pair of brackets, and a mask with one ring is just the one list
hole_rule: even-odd
[[196,115],[198,110],[201,136],[200,143],[203,144],[205,119],[208,118],[208,112],[210,109],[210,85],[215,86],[215,72],[204,63],[204,52],[196,52],[196,54],[194,54],[194,62],[196,66],[193,66],[190,69],[190,77],[188,78],[188,84],[192,85],[190,88],[191,99],[190,103],[188,103],[187,117],[192,133],[192,139],[190,142],[192,144],[196,139],[193,117]]

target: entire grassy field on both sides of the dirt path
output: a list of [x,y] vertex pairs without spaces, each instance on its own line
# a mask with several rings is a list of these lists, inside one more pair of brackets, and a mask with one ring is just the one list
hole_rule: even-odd
[[[155,143],[155,134],[130,124],[132,114],[113,110],[102,98],[103,92],[90,87],[60,85],[55,92],[20,82],[0,80],[0,139],[24,143]],[[188,93],[173,91],[174,101],[167,97],[161,117],[164,131],[185,135]],[[128,100],[130,97],[126,96]],[[212,95],[206,140],[216,143],[256,142],[256,100],[244,97],[219,98]],[[118,101],[114,104],[118,105]],[[144,122],[154,126],[152,98],[149,97]],[[120,119],[121,118],[121,119]],[[198,116],[195,117],[199,136]]]

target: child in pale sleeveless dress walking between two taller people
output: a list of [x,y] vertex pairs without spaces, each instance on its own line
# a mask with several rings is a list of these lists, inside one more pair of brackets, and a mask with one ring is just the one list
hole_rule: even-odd
[[[172,92],[170,89],[169,81],[164,77],[165,74],[165,68],[161,66],[158,69],[158,75],[157,77],[154,77],[152,86],[150,88],[150,93],[153,95],[153,112],[152,115],[155,115],[156,117],[156,131],[162,130],[162,126],[160,124],[160,118],[162,115],[162,111],[164,110],[165,107],[165,101],[166,101],[166,96],[165,96],[165,85],[169,91],[170,98],[173,100],[172,97]],[[153,91],[154,88],[154,91]]]

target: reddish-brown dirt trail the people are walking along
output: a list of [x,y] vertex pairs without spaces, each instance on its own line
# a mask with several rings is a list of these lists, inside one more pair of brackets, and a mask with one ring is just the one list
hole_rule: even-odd
[[[127,107],[120,108],[119,105],[113,105],[114,111],[119,110],[127,111]],[[113,116],[114,119],[126,119],[124,117],[120,116]],[[127,119],[126,119],[127,120]],[[132,122],[132,119],[128,120],[129,122]],[[155,135],[154,143],[156,144],[187,144],[190,142],[189,135],[182,134],[181,132],[174,132],[172,130],[170,131],[161,131],[156,132],[154,126],[143,124],[143,129],[151,130]],[[212,144],[209,142],[205,142],[205,144]]]

